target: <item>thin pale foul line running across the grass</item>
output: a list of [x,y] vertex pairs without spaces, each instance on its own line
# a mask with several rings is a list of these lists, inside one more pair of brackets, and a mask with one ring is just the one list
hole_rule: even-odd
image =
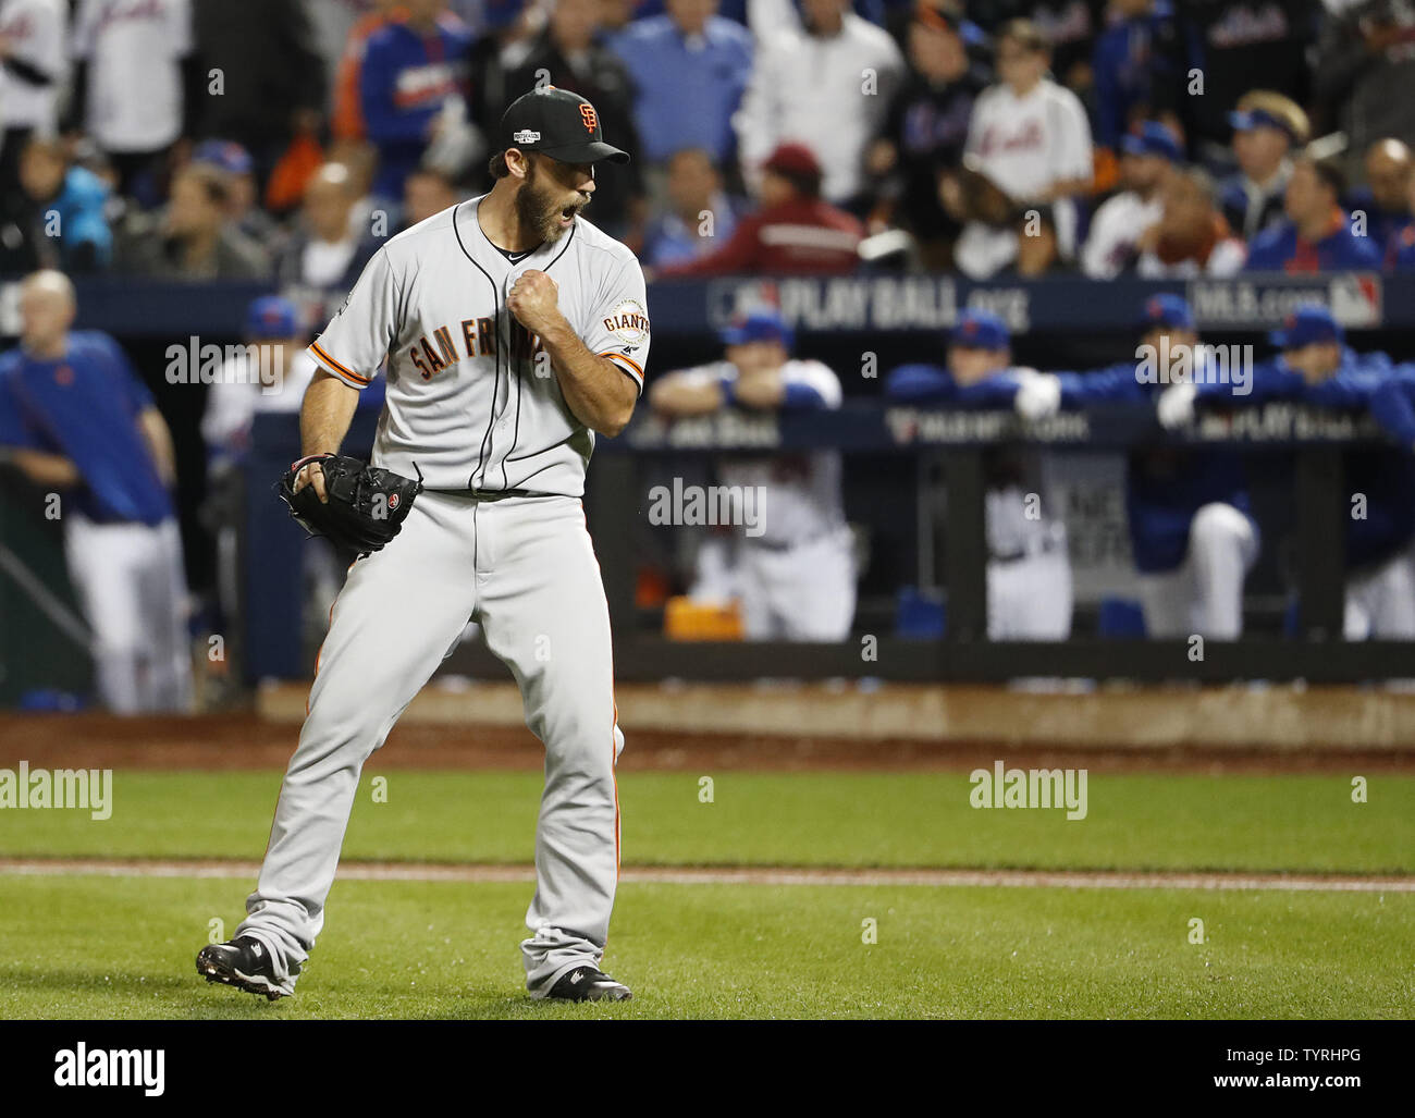
[[[0,858],[0,873],[34,877],[248,877],[259,862],[216,859]],[[345,862],[345,882],[533,882],[533,866]],[[770,866],[625,866],[624,884],[832,884],[982,886],[998,889],[1274,889],[1286,893],[1415,893],[1415,876],[1193,873],[988,869],[781,869]]]

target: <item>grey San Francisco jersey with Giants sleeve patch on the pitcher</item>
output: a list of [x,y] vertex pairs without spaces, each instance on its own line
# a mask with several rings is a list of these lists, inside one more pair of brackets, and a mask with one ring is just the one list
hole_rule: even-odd
[[382,365],[375,464],[422,471],[430,490],[580,497],[594,433],[570,412],[549,354],[507,310],[507,293],[522,272],[545,272],[590,352],[642,392],[644,273],[633,252],[579,217],[553,245],[507,253],[481,231],[480,204],[458,202],[391,239],[310,352],[359,389]]

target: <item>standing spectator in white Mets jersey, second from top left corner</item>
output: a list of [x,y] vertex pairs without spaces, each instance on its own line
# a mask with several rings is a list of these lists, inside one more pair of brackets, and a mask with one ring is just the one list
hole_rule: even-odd
[[157,205],[167,153],[191,133],[205,88],[190,0],[79,0],[74,58],[74,126],[112,160],[120,194]]

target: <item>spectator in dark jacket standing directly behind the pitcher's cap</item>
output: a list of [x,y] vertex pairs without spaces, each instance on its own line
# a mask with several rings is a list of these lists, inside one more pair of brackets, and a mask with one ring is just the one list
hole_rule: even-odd
[[[618,241],[642,236],[642,168],[640,140],[634,132],[630,76],[618,57],[599,41],[599,0],[555,0],[545,30],[524,44],[521,61],[494,79],[508,100],[494,105],[484,96],[484,113],[477,123],[492,132],[507,105],[538,85],[573,89],[594,105],[606,136],[623,137],[617,146],[628,151],[628,164],[600,164],[594,174],[594,224]],[[499,64],[498,64],[499,65]],[[668,96],[668,91],[661,91]]]

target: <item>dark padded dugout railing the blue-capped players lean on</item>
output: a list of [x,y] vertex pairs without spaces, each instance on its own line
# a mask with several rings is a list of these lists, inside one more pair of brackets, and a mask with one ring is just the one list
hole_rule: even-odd
[[[352,443],[371,439],[362,419]],[[252,457],[252,484],[277,471],[296,437],[294,417],[262,420]],[[996,642],[986,638],[986,545],[983,532],[983,451],[999,442],[1067,449],[1122,450],[1136,443],[1230,446],[1247,453],[1292,454],[1295,590],[1300,633],[1207,641],[1196,658],[1190,641],[1078,637],[1064,642]],[[856,400],[839,412],[763,416],[720,413],[664,423],[642,415],[624,434],[601,440],[589,471],[586,509],[614,621],[616,676],[620,679],[883,678],[896,681],[999,682],[1019,676],[1136,681],[1307,679],[1357,682],[1415,678],[1415,642],[1341,637],[1344,601],[1343,451],[1385,446],[1374,425],[1356,415],[1268,403],[1234,415],[1201,413],[1193,427],[1165,432],[1149,408],[1112,406],[1063,413],[1022,425],[1007,412],[949,412],[893,408]],[[856,633],[841,644],[672,641],[642,624],[635,606],[638,556],[634,541],[645,515],[641,473],[655,456],[771,453],[835,447],[940,460],[948,501],[942,534],[948,541],[941,580],[948,626],[938,640],[906,640],[889,633]],[[297,579],[279,572],[299,567],[300,532],[270,502],[249,504],[243,616],[248,674],[301,676],[296,620]],[[869,641],[866,642],[866,638]],[[869,654],[866,654],[866,648]],[[488,678],[504,674],[490,652],[460,647],[443,671]]]

